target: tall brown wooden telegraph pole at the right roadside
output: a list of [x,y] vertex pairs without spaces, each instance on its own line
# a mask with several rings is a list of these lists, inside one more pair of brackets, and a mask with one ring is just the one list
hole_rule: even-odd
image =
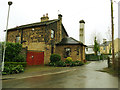
[[113,23],[113,0],[111,0],[111,28],[112,28],[112,62],[115,69],[115,57],[114,57],[114,23]]

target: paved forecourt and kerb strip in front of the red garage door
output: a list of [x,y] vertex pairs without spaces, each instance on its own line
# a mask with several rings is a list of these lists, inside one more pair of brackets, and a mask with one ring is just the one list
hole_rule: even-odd
[[25,71],[22,73],[2,75],[2,80],[24,79],[36,76],[59,74],[73,70],[76,70],[75,67],[27,66]]

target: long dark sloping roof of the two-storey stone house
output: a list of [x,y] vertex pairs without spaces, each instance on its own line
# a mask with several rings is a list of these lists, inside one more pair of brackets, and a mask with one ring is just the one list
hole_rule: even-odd
[[30,28],[30,27],[36,27],[36,26],[42,26],[42,25],[49,25],[49,24],[57,22],[57,21],[58,21],[58,19],[48,20],[48,21],[44,21],[44,22],[36,22],[36,23],[21,25],[21,26],[11,28],[8,30],[16,30],[16,29]]

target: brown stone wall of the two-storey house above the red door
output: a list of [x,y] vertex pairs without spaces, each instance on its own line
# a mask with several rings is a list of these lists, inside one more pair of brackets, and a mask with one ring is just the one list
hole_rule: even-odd
[[[34,30],[33,30],[34,28]],[[51,38],[51,30],[54,30],[55,37]],[[50,61],[51,47],[54,47],[54,52],[56,49],[55,44],[60,42],[63,37],[67,37],[65,32],[62,31],[62,21],[58,20],[55,23],[49,24],[47,26],[37,26],[22,28],[16,30],[8,30],[7,41],[16,42],[16,36],[20,37],[19,43],[22,40],[26,41],[22,43],[23,48],[27,47],[28,50],[32,51],[44,51],[44,63]]]

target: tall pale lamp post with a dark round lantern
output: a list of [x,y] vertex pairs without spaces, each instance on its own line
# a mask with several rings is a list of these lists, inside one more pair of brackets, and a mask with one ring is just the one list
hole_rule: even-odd
[[5,60],[5,49],[6,49],[6,41],[7,41],[7,30],[8,30],[8,21],[9,21],[9,13],[10,13],[10,6],[12,5],[12,2],[8,2],[8,16],[7,16],[7,25],[6,25],[6,35],[5,35],[5,42],[4,42],[4,51],[3,51],[3,61],[2,61],[2,71],[4,70],[4,60]]

